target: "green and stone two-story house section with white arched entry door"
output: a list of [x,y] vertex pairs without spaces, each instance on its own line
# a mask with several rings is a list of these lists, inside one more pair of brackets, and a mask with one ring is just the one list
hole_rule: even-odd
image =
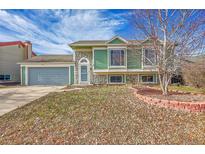
[[74,50],[75,84],[157,83],[156,55],[149,39],[87,40]]

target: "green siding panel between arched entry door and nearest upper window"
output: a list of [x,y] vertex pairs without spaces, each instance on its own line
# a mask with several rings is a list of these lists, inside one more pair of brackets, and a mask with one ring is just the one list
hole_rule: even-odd
[[107,50],[94,50],[94,69],[107,69]]

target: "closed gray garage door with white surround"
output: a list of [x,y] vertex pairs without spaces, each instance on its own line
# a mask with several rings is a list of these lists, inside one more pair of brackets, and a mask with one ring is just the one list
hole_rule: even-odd
[[66,85],[69,84],[69,68],[43,67],[28,69],[29,85]]

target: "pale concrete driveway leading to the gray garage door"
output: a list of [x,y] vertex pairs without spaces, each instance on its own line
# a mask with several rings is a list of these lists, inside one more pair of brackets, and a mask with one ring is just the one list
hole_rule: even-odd
[[50,92],[60,91],[63,86],[28,86],[0,89],[0,116],[38,99]]

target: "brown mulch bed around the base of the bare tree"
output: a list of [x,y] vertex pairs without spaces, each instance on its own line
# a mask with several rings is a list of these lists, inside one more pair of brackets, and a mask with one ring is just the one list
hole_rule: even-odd
[[205,95],[203,94],[192,95],[190,93],[180,93],[180,92],[170,91],[169,95],[164,96],[162,95],[162,91],[158,89],[147,88],[147,87],[140,87],[140,88],[135,87],[135,88],[139,90],[138,91],[139,94],[150,96],[152,98],[175,100],[181,102],[193,102],[193,103],[205,101]]

